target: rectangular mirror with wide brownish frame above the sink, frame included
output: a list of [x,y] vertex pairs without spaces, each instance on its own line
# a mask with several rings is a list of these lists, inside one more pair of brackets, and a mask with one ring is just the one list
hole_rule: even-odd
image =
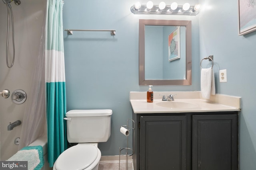
[[191,21],[139,20],[139,85],[191,85]]

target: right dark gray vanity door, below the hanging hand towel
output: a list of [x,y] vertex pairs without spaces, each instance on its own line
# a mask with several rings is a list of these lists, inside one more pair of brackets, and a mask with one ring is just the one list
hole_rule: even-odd
[[193,115],[193,170],[237,170],[237,115]]

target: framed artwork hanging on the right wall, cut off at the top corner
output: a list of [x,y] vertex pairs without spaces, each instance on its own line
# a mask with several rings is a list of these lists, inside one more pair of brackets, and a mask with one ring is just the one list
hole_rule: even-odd
[[256,31],[256,0],[238,0],[238,35]]

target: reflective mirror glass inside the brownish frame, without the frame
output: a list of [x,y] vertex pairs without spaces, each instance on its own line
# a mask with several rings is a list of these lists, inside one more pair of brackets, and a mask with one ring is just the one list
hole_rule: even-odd
[[145,25],[145,79],[186,79],[185,26]]

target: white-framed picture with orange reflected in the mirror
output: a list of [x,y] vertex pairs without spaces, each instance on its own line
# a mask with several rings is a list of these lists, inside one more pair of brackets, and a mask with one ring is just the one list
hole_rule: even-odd
[[169,61],[180,59],[180,26],[168,35],[168,59]]

